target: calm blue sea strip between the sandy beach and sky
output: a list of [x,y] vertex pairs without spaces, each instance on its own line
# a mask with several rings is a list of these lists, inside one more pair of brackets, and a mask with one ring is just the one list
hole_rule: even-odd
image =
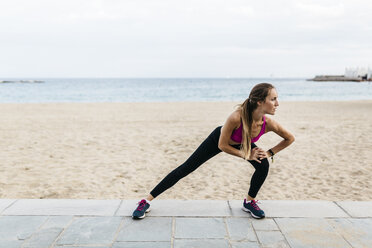
[[371,100],[372,82],[306,78],[27,78],[0,83],[0,103],[243,101],[257,83],[275,86],[279,101]]

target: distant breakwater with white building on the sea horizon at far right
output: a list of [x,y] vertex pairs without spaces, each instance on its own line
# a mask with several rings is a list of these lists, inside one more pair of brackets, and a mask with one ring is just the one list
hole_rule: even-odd
[[344,75],[320,75],[307,81],[352,81],[363,82],[372,81],[372,70],[367,68],[345,68]]

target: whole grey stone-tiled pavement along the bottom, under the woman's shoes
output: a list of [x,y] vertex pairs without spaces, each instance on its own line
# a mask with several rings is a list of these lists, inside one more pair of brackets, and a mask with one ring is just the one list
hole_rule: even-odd
[[372,247],[372,202],[0,199],[0,248]]

